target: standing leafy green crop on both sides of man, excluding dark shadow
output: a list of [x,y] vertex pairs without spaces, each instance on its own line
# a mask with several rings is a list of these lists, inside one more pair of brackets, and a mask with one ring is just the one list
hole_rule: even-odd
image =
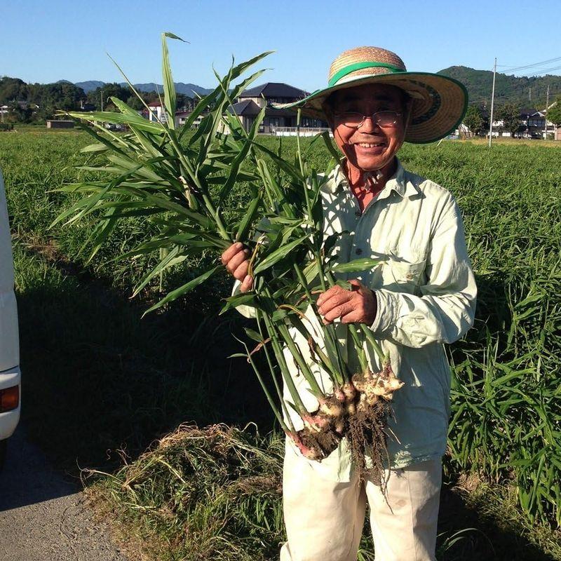
[[[271,147],[276,143],[266,138]],[[306,141],[307,142],[307,141]],[[112,286],[130,292],[143,262],[111,260],[146,236],[130,219],[88,262],[88,227],[48,229],[65,201],[50,192],[90,172],[76,170],[88,144],[82,135],[0,137],[15,238],[56,252]],[[284,149],[295,148],[285,139]],[[452,423],[450,470],[473,470],[489,480],[518,485],[529,518],[561,522],[561,158],[557,148],[446,143],[406,145],[405,166],[450,189],[463,212],[478,282],[475,326],[450,349]],[[313,147],[311,160],[325,168],[327,153]],[[243,185],[231,208],[248,201]],[[151,257],[146,257],[150,259]],[[211,257],[208,257],[209,259]],[[182,264],[164,285],[196,275],[198,262]],[[185,282],[183,280],[183,282]],[[216,309],[225,277],[210,293],[195,293]],[[156,283],[151,290],[161,286]],[[150,297],[149,292],[145,295]]]

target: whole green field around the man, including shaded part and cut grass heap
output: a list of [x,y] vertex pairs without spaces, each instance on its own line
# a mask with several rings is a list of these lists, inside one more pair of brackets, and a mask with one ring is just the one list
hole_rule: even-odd
[[[141,320],[162,290],[196,276],[201,262],[184,263],[130,300],[147,262],[114,257],[146,236],[147,224],[122,224],[90,262],[87,224],[49,229],[68,204],[52,190],[91,173],[75,167],[89,143],[76,131],[0,133],[23,417],[60,464],[114,474],[98,479],[97,496],[123,532],[137,536],[135,547],[151,542],[158,559],[187,551],[197,560],[273,558],[283,532],[278,436],[193,429],[137,459],[182,422],[255,422],[266,434],[273,419],[245,361],[227,359],[238,350],[231,333],[239,336],[245,320],[217,317],[229,292],[225,275]],[[406,168],[457,197],[479,288],[473,330],[450,349],[441,560],[561,560],[558,144],[495,142],[489,151],[485,143],[441,142],[400,152]],[[327,154],[314,150],[322,169]],[[247,197],[241,186],[230,204]],[[123,458],[130,465],[119,468]],[[196,477],[209,463],[213,471]]]

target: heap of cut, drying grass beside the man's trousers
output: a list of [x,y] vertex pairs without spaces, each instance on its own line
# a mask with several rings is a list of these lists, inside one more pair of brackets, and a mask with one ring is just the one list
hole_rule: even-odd
[[283,540],[283,440],[250,428],[180,426],[93,495],[119,509],[134,557],[265,561]]

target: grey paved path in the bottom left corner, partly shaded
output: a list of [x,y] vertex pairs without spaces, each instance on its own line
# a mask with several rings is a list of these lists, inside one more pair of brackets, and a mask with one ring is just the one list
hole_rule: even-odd
[[126,561],[93,521],[79,485],[54,470],[18,428],[0,472],[2,561]]

